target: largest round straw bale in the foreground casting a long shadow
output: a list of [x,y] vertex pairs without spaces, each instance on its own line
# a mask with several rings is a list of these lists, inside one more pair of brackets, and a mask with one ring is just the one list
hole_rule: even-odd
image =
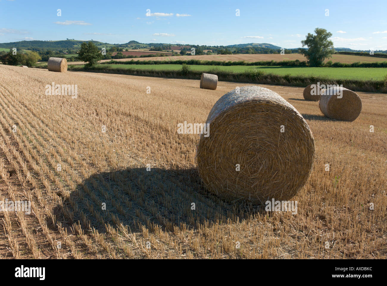
[[274,91],[232,90],[215,103],[207,123],[209,136],[200,137],[197,166],[210,192],[262,205],[292,198],[305,185],[314,138],[301,114]]

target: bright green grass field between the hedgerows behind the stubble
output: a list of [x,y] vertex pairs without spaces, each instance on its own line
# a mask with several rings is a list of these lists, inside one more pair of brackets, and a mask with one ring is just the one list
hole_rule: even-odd
[[[128,65],[128,64],[101,64],[100,66],[106,69],[154,69],[159,71],[178,71],[182,65],[161,64],[161,65]],[[83,68],[83,65],[77,65]],[[319,76],[332,79],[373,79],[382,80],[387,74],[387,68],[372,68],[372,67],[284,67],[284,66],[212,66],[212,65],[189,65],[192,71],[233,71],[244,72],[252,69],[259,69],[271,74],[284,76],[290,74],[292,76]]]

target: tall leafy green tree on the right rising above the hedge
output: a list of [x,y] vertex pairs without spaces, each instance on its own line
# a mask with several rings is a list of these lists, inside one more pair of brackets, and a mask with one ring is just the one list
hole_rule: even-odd
[[302,47],[307,46],[308,49],[300,50],[308,59],[308,64],[311,67],[320,67],[325,59],[329,59],[335,53],[333,42],[329,40],[332,33],[322,28],[314,30],[316,34],[308,33],[306,39],[301,41]]

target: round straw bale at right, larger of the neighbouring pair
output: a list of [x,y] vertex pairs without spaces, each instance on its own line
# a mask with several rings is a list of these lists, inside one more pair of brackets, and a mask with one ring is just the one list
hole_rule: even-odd
[[329,118],[354,121],[359,116],[362,105],[360,97],[352,90],[336,86],[324,91],[319,106],[321,112]]

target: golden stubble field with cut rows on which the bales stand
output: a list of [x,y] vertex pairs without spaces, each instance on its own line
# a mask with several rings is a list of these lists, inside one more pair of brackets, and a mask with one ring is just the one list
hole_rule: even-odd
[[[53,82],[77,84],[77,97],[46,95]],[[184,121],[204,123],[236,86],[1,65],[0,201],[31,202],[30,214],[0,213],[1,257],[385,258],[385,95],[359,92],[361,114],[341,122],[303,100],[303,88],[261,85],[315,138],[293,215],[207,193],[200,134],[177,132]]]

